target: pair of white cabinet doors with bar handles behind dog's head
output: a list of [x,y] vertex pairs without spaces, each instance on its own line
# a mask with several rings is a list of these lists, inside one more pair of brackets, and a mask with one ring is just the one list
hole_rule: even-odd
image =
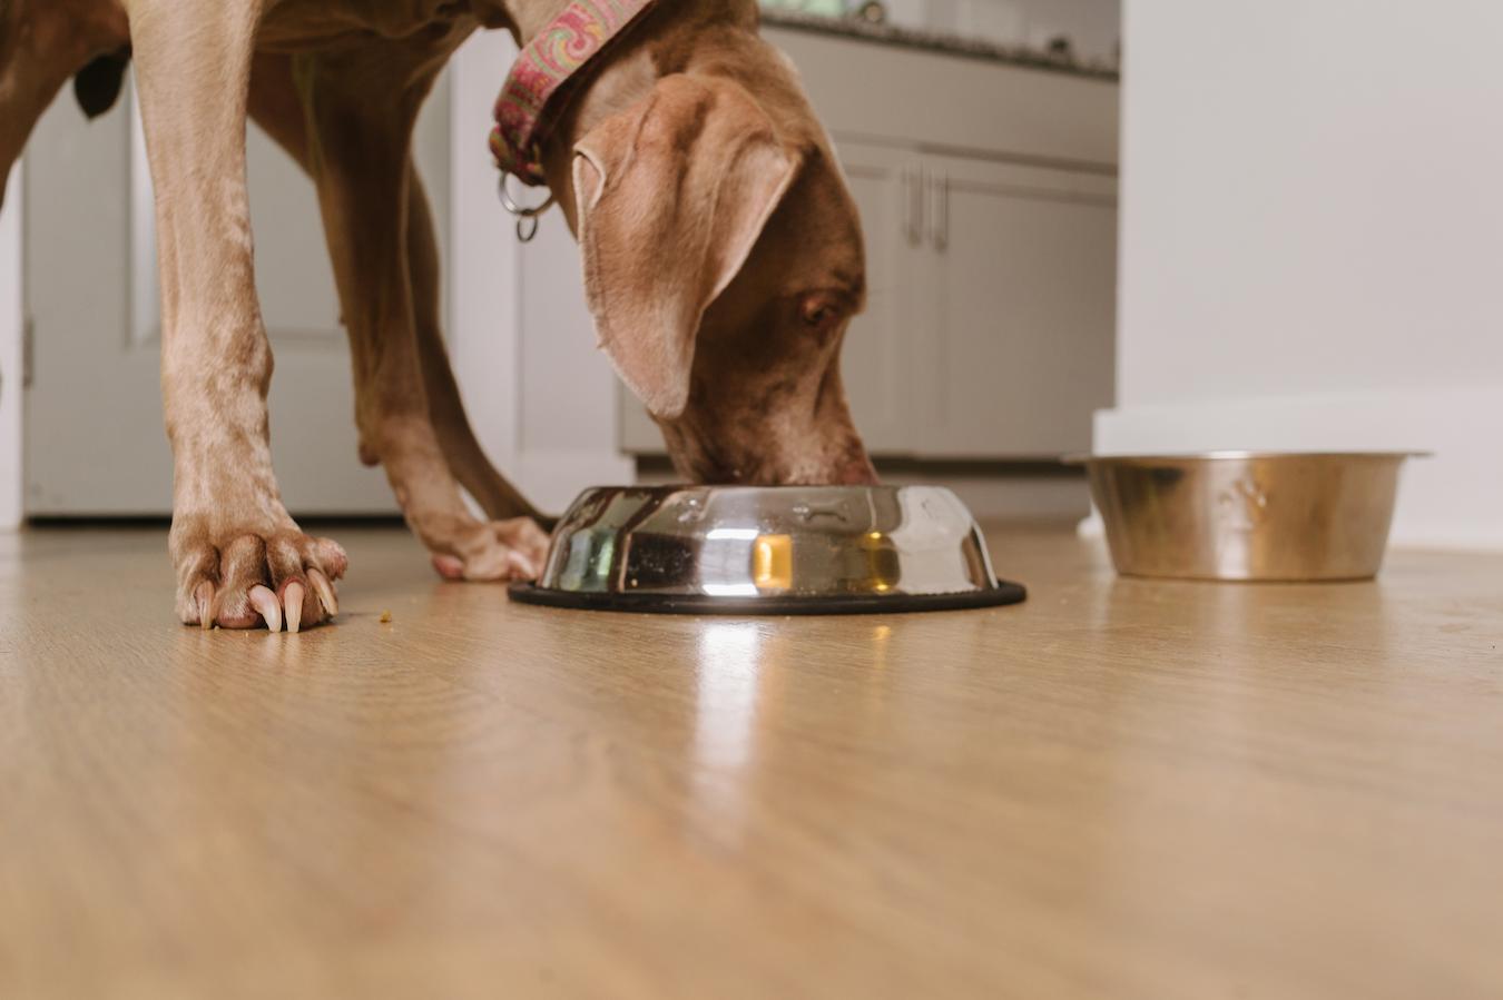
[[870,303],[843,369],[878,455],[1087,450],[1112,402],[1117,180],[843,143]]

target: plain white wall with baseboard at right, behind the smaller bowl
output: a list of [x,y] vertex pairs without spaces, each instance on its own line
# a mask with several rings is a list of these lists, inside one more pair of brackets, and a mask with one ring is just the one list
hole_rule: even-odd
[[1395,541],[1503,545],[1503,3],[1129,0],[1103,452],[1434,449]]

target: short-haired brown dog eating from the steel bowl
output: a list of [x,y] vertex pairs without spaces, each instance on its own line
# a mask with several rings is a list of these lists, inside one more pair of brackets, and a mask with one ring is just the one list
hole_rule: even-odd
[[[57,90],[108,108],[134,50],[162,281],[177,613],[277,631],[337,613],[343,550],[283,508],[253,279],[246,116],[314,179],[356,383],[446,577],[537,574],[535,511],[487,462],[439,330],[418,110],[476,29],[531,39],[564,0],[0,0],[0,179]],[[502,68],[497,68],[497,81]],[[857,213],[755,0],[663,0],[592,63],[544,147],[601,347],[700,482],[875,479],[839,374],[864,297]],[[476,144],[484,135],[476,135]],[[491,518],[472,518],[467,489]]]

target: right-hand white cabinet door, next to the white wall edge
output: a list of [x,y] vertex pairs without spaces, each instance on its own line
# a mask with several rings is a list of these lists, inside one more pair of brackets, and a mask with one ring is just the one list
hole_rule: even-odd
[[920,452],[1090,450],[1114,396],[1117,179],[951,156],[926,156],[924,171]]

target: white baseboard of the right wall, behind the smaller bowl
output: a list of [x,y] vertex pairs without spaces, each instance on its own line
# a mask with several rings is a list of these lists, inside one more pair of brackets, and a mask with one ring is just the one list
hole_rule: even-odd
[[[1096,414],[1100,455],[1425,450],[1404,471],[1392,541],[1503,550],[1503,384],[1303,398],[1186,401]],[[1084,526],[1082,526],[1084,527]]]

